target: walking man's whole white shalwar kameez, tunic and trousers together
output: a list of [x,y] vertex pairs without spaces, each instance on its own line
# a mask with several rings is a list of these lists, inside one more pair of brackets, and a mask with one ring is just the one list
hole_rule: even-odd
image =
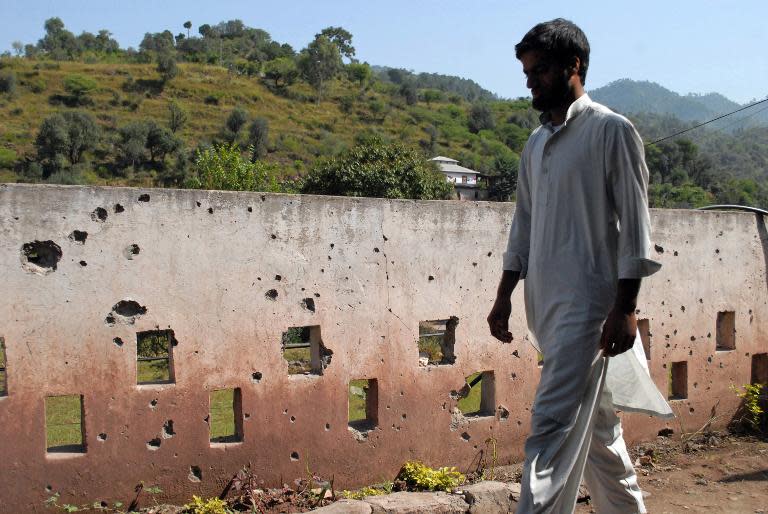
[[650,378],[639,334],[616,357],[600,351],[621,278],[649,259],[648,169],[631,123],[585,94],[565,123],[543,125],[520,160],[504,269],[525,284],[528,327],[544,356],[525,444],[518,513],[567,513],[582,475],[597,512],[645,512],[614,409],[672,417]]

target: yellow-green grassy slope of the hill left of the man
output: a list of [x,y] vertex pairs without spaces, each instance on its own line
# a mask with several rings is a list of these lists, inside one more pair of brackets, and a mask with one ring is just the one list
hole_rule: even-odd
[[[40,126],[45,118],[67,111],[90,114],[101,129],[99,144],[86,154],[75,181],[145,186],[163,183],[164,171],[173,169],[178,157],[126,167],[116,157],[119,130],[146,120],[167,127],[171,103],[188,118],[176,134],[183,143],[180,154],[231,137],[225,122],[236,108],[251,120],[266,119],[269,143],[264,159],[286,178],[301,175],[318,157],[338,154],[371,135],[422,148],[425,157],[449,155],[492,172],[497,158],[520,151],[536,119],[526,102],[493,102],[488,104],[492,128],[473,133],[473,104],[457,95],[434,90],[426,102],[419,91],[409,105],[396,85],[372,81],[360,86],[344,77],[334,79],[320,95],[308,84],[275,90],[261,78],[196,63],[179,63],[178,76],[164,85],[153,64],[10,58],[0,61],[0,67],[0,72],[16,76],[15,91],[0,94],[2,181],[35,179],[26,168],[37,159]],[[97,84],[81,105],[72,105],[64,87],[67,77],[76,75]],[[245,148],[247,130],[241,132],[237,142]]]

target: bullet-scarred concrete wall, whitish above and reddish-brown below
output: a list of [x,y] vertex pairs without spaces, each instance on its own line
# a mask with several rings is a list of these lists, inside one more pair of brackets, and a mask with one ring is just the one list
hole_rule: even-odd
[[[466,469],[489,438],[500,463],[518,460],[539,376],[521,291],[512,344],[485,322],[513,208],[1,184],[0,511],[42,511],[54,492],[126,502],[140,481],[169,501],[216,495],[249,462],[267,486],[309,466],[353,487],[406,459]],[[694,431],[713,408],[724,425],[738,407],[731,385],[766,372],[762,218],[652,218],[664,267],[644,282],[638,317],[654,380],[681,398],[677,420],[625,416],[630,441]],[[419,322],[452,316],[455,362],[420,365]],[[288,374],[281,337],[298,326],[319,326],[332,352],[321,375]],[[137,334],[153,330],[173,331],[173,383],[137,385]],[[487,415],[465,417],[456,391],[478,371],[493,386]],[[353,379],[375,380],[373,426],[360,430],[348,426]],[[210,441],[209,393],[221,388],[239,389],[240,442]],[[81,395],[84,452],[46,451],[54,395]]]

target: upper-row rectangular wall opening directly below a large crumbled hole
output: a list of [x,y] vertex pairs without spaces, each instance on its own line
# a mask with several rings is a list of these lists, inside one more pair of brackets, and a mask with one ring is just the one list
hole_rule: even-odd
[[149,330],[136,334],[136,382],[170,384],[173,375],[173,330]]

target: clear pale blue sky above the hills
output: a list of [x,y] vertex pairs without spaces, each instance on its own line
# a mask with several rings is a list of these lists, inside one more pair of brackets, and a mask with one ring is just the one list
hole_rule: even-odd
[[341,25],[362,61],[470,78],[504,97],[527,96],[515,43],[561,16],[589,37],[588,89],[632,78],[740,103],[768,95],[768,0],[0,0],[0,50],[36,42],[52,16],[76,34],[108,29],[123,47],[145,32],[182,32],[186,20],[196,31],[239,18],[299,50]]

